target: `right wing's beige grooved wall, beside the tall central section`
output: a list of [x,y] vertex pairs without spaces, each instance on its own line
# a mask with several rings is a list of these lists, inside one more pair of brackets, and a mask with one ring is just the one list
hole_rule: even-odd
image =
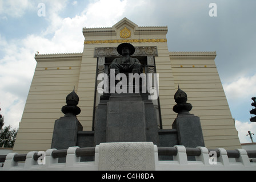
[[215,65],[215,52],[171,52],[174,82],[187,93],[190,113],[201,119],[206,147],[241,148]]

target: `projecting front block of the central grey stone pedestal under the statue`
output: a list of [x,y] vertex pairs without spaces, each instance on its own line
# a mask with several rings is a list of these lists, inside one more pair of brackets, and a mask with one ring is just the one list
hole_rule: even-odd
[[106,142],[146,142],[145,106],[139,94],[111,94]]

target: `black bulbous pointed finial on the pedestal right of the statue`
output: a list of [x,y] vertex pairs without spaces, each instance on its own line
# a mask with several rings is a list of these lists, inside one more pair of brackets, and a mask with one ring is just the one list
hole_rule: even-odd
[[190,114],[189,111],[192,109],[192,105],[187,103],[187,94],[179,88],[174,94],[174,100],[177,103],[173,107],[173,111],[178,114]]

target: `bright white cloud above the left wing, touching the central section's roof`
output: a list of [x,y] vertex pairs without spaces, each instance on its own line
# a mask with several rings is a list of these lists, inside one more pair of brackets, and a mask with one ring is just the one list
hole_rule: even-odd
[[[62,5],[64,8],[65,5]],[[61,18],[58,11],[50,13],[50,25],[46,31],[42,32],[41,37],[31,35],[31,47],[38,44],[37,50],[39,53],[67,53],[67,52],[82,52],[83,50],[83,27],[109,27],[117,23],[123,18],[126,1],[119,0],[100,0],[90,3],[81,14],[74,18]],[[43,37],[54,34],[51,40]]]

